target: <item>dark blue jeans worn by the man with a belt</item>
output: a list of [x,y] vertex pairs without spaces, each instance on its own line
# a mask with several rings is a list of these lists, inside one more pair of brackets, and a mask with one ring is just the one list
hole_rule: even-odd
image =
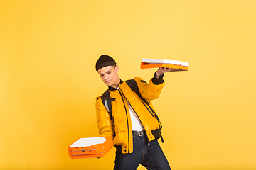
[[134,136],[132,154],[116,154],[114,162],[114,170],[135,170],[139,164],[149,170],[171,170],[159,142],[148,144],[145,136]]

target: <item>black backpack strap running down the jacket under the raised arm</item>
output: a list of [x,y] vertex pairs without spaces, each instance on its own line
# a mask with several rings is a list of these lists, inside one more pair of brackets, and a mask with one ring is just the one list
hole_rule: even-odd
[[[142,97],[142,94],[139,93],[139,88],[138,88],[137,82],[134,79],[129,79],[129,80],[125,81],[125,82],[132,89],[132,91],[134,91],[139,96],[139,98],[141,98],[142,101],[144,101],[144,103],[146,103],[147,106],[149,106],[149,102],[146,101],[146,99]],[[154,116],[156,117],[156,119],[159,121],[159,125],[160,125],[159,134],[160,134],[160,137],[161,137],[161,142],[164,143],[164,139],[163,139],[163,137],[161,135],[161,129],[163,128],[163,126],[161,125],[161,121],[160,121],[159,117],[156,115],[156,112],[154,111],[154,109],[151,108],[150,106],[149,106],[149,108],[152,111],[152,113],[154,113]]]

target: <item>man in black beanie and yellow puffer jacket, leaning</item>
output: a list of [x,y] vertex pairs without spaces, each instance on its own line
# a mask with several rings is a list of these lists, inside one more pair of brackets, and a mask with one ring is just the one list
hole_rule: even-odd
[[117,149],[114,170],[134,170],[139,164],[149,170],[170,169],[157,141],[161,137],[161,123],[150,101],[159,98],[164,87],[164,72],[172,69],[159,68],[149,84],[135,77],[142,98],[127,81],[119,79],[119,67],[112,57],[100,56],[96,70],[108,86],[112,98],[111,115],[101,97],[97,97],[96,111],[100,136],[112,136]]

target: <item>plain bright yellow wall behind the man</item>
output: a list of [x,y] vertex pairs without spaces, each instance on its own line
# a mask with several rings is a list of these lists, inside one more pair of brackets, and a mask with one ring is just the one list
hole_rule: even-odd
[[[122,79],[142,58],[189,62],[153,101],[172,169],[256,169],[256,1],[0,1],[0,169],[112,169],[70,159],[96,137],[102,55]],[[139,169],[144,169],[142,166]]]

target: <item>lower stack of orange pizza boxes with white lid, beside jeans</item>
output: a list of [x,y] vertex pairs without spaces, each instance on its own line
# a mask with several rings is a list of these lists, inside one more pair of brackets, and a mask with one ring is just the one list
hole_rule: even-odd
[[113,147],[112,137],[80,138],[68,146],[72,159],[104,157]]

